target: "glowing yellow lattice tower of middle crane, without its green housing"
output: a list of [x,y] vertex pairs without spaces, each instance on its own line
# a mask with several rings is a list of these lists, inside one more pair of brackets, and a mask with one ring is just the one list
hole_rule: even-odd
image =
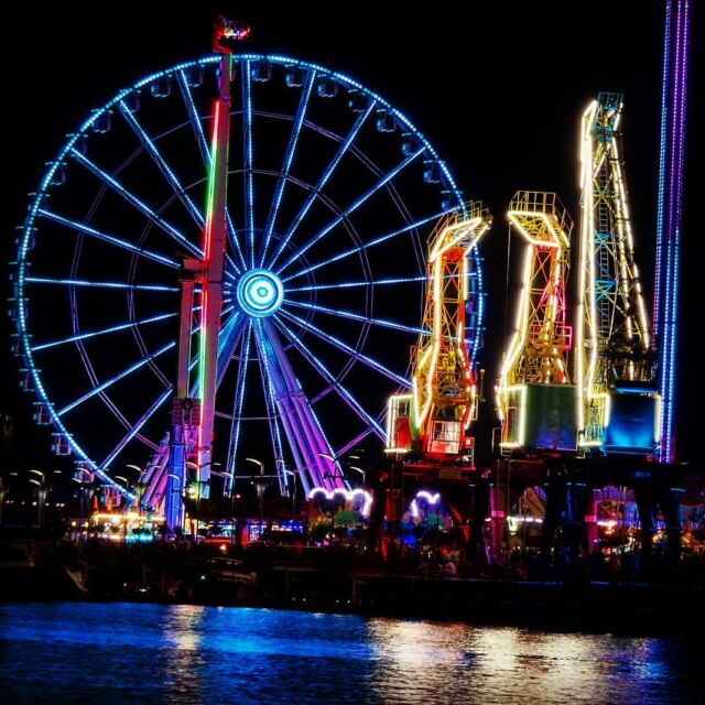
[[553,193],[520,191],[507,217],[527,240],[514,334],[500,373],[497,402],[502,445],[522,445],[527,384],[570,384],[565,283],[573,220]]

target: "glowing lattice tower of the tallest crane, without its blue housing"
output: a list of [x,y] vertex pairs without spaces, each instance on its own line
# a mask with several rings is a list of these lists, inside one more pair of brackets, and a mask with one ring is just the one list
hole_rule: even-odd
[[578,431],[585,446],[604,443],[610,389],[654,378],[627,204],[621,111],[621,95],[600,93],[582,120],[576,381]]

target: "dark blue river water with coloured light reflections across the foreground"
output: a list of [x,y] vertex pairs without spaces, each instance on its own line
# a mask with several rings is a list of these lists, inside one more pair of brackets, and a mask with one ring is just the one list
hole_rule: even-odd
[[0,605],[0,703],[696,703],[702,647],[351,615]]

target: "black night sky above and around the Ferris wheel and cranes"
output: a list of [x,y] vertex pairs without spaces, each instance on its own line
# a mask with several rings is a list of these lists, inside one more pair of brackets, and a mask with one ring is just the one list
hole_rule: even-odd
[[[46,10],[13,8],[2,18],[4,166],[2,260],[12,259],[12,228],[26,206],[44,162],[52,159],[90,108],[152,70],[209,52],[216,6],[193,9],[134,2]],[[495,215],[485,240],[487,345],[481,364],[496,375],[503,345],[503,212],[518,188],[556,191],[577,219],[576,144],[578,117],[599,90],[626,95],[623,120],[627,180],[638,260],[648,299],[653,289],[658,126],[662,62],[662,3],[639,0],[594,2],[467,3],[469,20],[455,3],[341,6],[238,2],[234,10],[253,28],[251,51],[285,53],[347,73],[405,112],[435,145],[467,197],[480,198]],[[697,4],[697,3],[693,3]],[[487,7],[486,7],[487,6]],[[585,9],[578,10],[579,6]],[[318,7],[318,3],[316,3]],[[377,9],[383,7],[383,17]],[[70,9],[68,9],[70,8]],[[685,225],[683,238],[682,346],[679,370],[679,447],[694,458],[701,400],[705,394],[702,352],[691,343],[699,323],[697,286],[702,246],[695,227],[696,126],[703,83],[694,9],[688,116]],[[465,13],[464,13],[465,14]],[[3,267],[4,269],[4,267]],[[575,273],[575,272],[574,272]],[[6,279],[4,273],[2,278]],[[574,297],[576,276],[570,283]],[[513,296],[512,296],[513,299]],[[29,400],[15,393],[17,366],[9,356],[10,324],[2,318],[2,410],[17,417],[18,436],[30,440],[28,460],[41,462],[48,440],[32,430]],[[491,392],[491,382],[486,392]],[[481,410],[491,415],[490,403]]]

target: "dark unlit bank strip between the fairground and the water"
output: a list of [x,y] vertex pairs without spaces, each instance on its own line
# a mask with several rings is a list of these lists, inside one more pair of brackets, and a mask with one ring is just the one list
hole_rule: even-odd
[[4,543],[0,600],[263,607],[685,636],[705,598],[699,578],[683,579],[682,571],[643,583],[575,574],[429,577],[404,567],[330,547]]

